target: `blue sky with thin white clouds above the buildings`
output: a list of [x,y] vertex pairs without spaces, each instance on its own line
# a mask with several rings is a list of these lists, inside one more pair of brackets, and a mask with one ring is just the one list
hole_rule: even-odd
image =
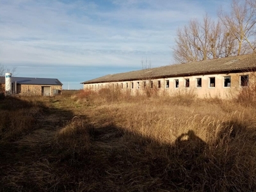
[[176,30],[223,0],[0,0],[0,63],[63,88],[106,74],[173,64]]

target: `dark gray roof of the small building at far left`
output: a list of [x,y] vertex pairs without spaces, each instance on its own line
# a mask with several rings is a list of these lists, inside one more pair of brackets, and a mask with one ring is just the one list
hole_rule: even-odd
[[[5,78],[0,78],[0,83],[4,83]],[[63,85],[58,79],[36,78],[36,77],[12,77],[12,83],[17,84],[44,84],[44,85]]]

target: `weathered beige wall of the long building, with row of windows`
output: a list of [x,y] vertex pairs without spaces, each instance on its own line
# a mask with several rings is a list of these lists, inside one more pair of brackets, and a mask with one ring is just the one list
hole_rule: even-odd
[[[222,99],[230,99],[243,88],[241,86],[241,76],[249,77],[249,84],[255,81],[254,74],[251,72],[244,72],[239,74],[212,74],[212,75],[200,75],[200,76],[184,76],[184,77],[170,77],[162,79],[150,79],[150,80],[134,80],[124,82],[111,82],[111,83],[93,83],[84,84],[84,90],[98,91],[101,88],[120,88],[121,90],[131,92],[131,95],[145,93],[144,82],[146,87],[150,88],[150,81],[153,81],[153,88],[159,94],[173,95],[178,92],[193,92],[200,98],[205,97],[220,97]],[[225,84],[225,78],[230,77],[230,86]],[[186,79],[189,79],[189,86],[186,87]],[[201,79],[201,87],[197,86],[196,79]],[[212,80],[210,80],[212,79]],[[175,82],[179,81],[179,87],[176,88]],[[159,87],[159,82],[161,87]],[[168,82],[168,86],[166,86]],[[228,82],[228,81],[227,81]],[[213,84],[211,84],[213,83]],[[132,88],[133,84],[133,88]]]

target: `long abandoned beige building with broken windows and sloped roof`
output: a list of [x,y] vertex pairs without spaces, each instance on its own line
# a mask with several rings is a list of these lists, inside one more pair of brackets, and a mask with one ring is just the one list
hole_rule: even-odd
[[118,88],[131,95],[145,90],[157,93],[193,92],[198,97],[229,99],[255,83],[256,54],[195,61],[111,74],[84,81],[84,90]]

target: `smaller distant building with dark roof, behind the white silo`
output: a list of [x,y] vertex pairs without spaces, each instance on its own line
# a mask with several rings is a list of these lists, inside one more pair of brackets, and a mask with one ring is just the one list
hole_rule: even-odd
[[[12,93],[20,95],[58,95],[62,91],[62,83],[58,79],[36,77],[12,77]],[[0,87],[5,86],[5,78],[0,77]]]

